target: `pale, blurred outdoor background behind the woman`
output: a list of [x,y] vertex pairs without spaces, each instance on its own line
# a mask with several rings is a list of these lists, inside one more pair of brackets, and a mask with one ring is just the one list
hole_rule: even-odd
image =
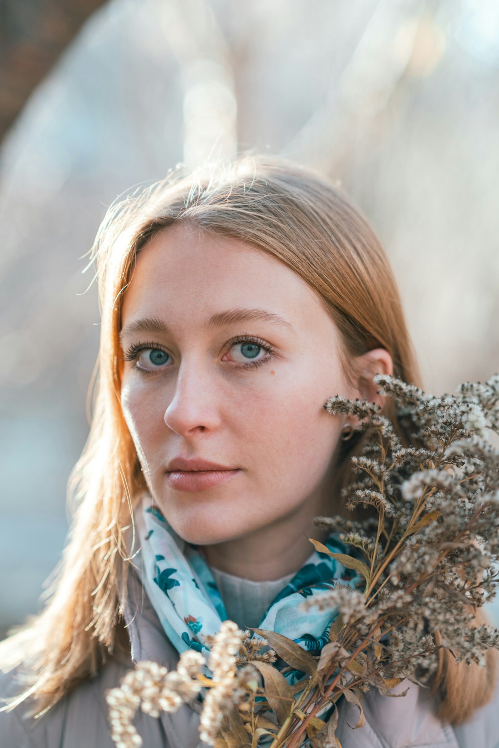
[[0,0],[0,632],[64,545],[115,197],[210,153],[319,168],[450,392],[499,370],[498,122],[495,0]]

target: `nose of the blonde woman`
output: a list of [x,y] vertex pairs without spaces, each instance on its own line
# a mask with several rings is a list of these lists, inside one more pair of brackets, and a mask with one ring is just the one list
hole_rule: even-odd
[[165,410],[165,423],[182,437],[214,431],[220,425],[216,387],[199,361],[183,361],[174,397]]

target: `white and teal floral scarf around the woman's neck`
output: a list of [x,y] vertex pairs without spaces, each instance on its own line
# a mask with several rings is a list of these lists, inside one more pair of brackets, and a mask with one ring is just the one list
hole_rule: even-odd
[[[174,533],[149,494],[135,511],[141,545],[138,574],[162,628],[177,651],[207,651],[206,634],[218,632],[227,613],[203,553]],[[330,551],[349,548],[331,535]],[[272,601],[258,628],[276,631],[313,654],[328,642],[331,610],[303,611],[300,603],[310,595],[330,589],[336,582],[356,586],[358,575],[326,554],[315,552]]]

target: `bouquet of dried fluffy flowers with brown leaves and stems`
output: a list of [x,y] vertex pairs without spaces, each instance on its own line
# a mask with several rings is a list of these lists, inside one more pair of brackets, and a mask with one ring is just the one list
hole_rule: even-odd
[[281,634],[224,622],[206,642],[207,662],[188,651],[172,672],[138,663],[108,691],[117,748],[141,746],[132,725],[138,708],[157,717],[196,701],[200,739],[216,748],[337,747],[342,696],[358,705],[361,727],[370,687],[391,696],[405,678],[424,685],[442,648],[466,663],[483,663],[486,649],[499,648],[497,629],[473,625],[499,580],[499,453],[489,441],[489,431],[499,432],[499,375],[441,397],[390,376],[374,381],[394,399],[413,446],[402,446],[373,403],[335,396],[325,404],[360,423],[358,475],[343,497],[367,518],[316,518],[351,555],[310,542],[361,579],[358,589],[331,583],[304,600],[304,608],[331,610],[319,656]]

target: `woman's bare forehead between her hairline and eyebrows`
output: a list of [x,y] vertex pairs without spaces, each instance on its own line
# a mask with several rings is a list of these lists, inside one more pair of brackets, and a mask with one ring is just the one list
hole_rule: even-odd
[[332,325],[319,295],[281,260],[180,224],[157,233],[138,253],[122,322],[138,316],[199,322],[236,307],[260,308],[300,328],[318,317]]

